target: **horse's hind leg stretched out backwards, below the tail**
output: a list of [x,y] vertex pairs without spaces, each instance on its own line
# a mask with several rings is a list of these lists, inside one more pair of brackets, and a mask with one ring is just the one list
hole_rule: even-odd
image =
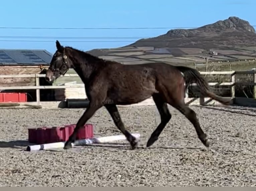
[[199,124],[196,112],[193,109],[189,108],[187,105],[185,105],[184,101],[179,104],[173,104],[172,106],[185,115],[185,117],[194,125],[199,139],[206,147],[209,147],[210,143],[208,141],[207,135],[204,133]]

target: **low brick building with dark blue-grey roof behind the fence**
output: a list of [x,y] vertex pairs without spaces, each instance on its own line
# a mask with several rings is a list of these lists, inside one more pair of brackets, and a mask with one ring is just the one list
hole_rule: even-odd
[[[0,49],[0,75],[39,74],[42,67],[48,68],[51,58],[52,54],[46,50]],[[1,87],[34,85],[35,78],[0,78]],[[44,79],[40,78],[40,85],[51,84],[47,84]],[[0,92],[3,91],[0,90]],[[45,91],[40,91],[40,93]],[[6,90],[4,92],[30,92],[34,94],[34,90]]]

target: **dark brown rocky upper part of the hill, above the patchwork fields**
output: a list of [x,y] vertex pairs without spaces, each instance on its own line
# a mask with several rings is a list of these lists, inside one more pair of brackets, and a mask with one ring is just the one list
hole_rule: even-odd
[[224,21],[196,29],[174,29],[155,38],[141,39],[128,46],[223,48],[230,46],[255,46],[256,34],[248,21],[229,17]]

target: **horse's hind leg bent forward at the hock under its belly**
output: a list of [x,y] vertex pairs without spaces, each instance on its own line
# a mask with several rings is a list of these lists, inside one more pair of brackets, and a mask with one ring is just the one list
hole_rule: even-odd
[[154,94],[154,95],[152,95],[152,97],[153,97],[153,100],[154,100],[156,107],[159,111],[159,114],[161,116],[161,122],[156,127],[156,129],[153,131],[150,138],[148,139],[147,147],[151,146],[158,139],[158,137],[161,134],[161,132],[163,131],[165,125],[171,119],[171,114],[167,107],[167,103],[162,100],[162,98],[160,97],[159,94]]

